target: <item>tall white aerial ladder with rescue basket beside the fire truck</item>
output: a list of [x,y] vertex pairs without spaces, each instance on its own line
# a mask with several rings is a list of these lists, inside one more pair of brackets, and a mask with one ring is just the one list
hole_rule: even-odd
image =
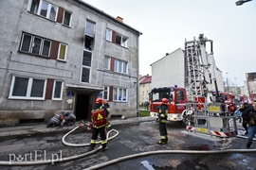
[[[207,42],[210,42],[210,54],[206,51]],[[231,116],[218,91],[212,43],[203,34],[199,35],[198,40],[194,38],[185,42],[186,89],[192,102],[188,103],[184,117],[189,131],[219,137],[235,136],[235,117]]]

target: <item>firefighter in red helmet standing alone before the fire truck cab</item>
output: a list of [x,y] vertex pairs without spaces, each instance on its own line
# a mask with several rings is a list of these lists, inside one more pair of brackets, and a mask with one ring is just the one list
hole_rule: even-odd
[[167,123],[167,112],[168,112],[168,99],[162,98],[162,104],[159,108],[159,114],[158,114],[158,122],[159,122],[159,132],[161,140],[157,144],[167,144],[168,136],[167,136],[167,129],[166,129],[166,123]]

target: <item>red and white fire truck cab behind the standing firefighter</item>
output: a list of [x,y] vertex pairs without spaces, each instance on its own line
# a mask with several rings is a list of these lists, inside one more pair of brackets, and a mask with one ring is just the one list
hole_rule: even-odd
[[174,86],[152,89],[149,93],[151,117],[158,118],[162,98],[167,98],[169,100],[167,120],[182,121],[182,111],[186,110],[186,104],[188,103],[185,88]]

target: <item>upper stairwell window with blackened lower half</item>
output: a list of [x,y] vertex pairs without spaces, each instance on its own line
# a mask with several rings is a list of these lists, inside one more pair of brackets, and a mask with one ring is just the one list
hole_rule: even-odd
[[90,51],[93,50],[94,26],[95,23],[88,20],[86,21],[84,30],[84,48]]

